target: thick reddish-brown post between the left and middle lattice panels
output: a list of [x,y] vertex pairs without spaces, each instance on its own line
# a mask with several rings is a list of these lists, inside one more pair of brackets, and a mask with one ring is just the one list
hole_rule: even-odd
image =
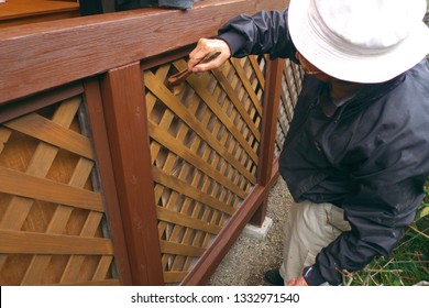
[[109,70],[101,82],[133,285],[163,285],[147,117],[140,63]]

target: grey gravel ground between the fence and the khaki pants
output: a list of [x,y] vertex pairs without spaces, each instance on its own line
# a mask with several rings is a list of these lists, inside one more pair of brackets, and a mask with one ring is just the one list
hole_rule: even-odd
[[273,220],[265,240],[242,233],[210,277],[209,286],[266,286],[264,272],[282,263],[283,224],[290,196],[279,178],[270,191],[267,217]]

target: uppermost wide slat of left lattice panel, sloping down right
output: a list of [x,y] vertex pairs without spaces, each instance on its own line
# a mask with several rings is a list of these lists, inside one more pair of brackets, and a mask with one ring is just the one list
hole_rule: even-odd
[[88,138],[67,130],[37,113],[30,113],[16,120],[6,122],[3,125],[94,160],[92,145]]

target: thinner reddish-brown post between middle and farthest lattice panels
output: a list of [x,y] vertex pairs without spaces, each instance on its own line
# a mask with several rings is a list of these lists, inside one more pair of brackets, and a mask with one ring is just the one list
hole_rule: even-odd
[[[257,184],[266,187],[271,182],[274,164],[274,146],[277,131],[278,106],[282,95],[282,77],[284,59],[268,61],[265,73],[265,91],[263,98],[263,119],[260,145],[260,164]],[[277,165],[275,165],[277,166]],[[278,172],[275,173],[278,176]],[[264,222],[267,209],[268,193],[271,187],[266,187],[266,195],[262,205],[250,220],[250,223],[261,227]]]

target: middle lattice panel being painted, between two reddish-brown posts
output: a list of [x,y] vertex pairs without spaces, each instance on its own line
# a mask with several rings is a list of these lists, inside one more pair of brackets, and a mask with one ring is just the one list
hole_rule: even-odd
[[144,72],[166,284],[188,274],[256,183],[263,57],[231,59],[174,91],[178,59]]

